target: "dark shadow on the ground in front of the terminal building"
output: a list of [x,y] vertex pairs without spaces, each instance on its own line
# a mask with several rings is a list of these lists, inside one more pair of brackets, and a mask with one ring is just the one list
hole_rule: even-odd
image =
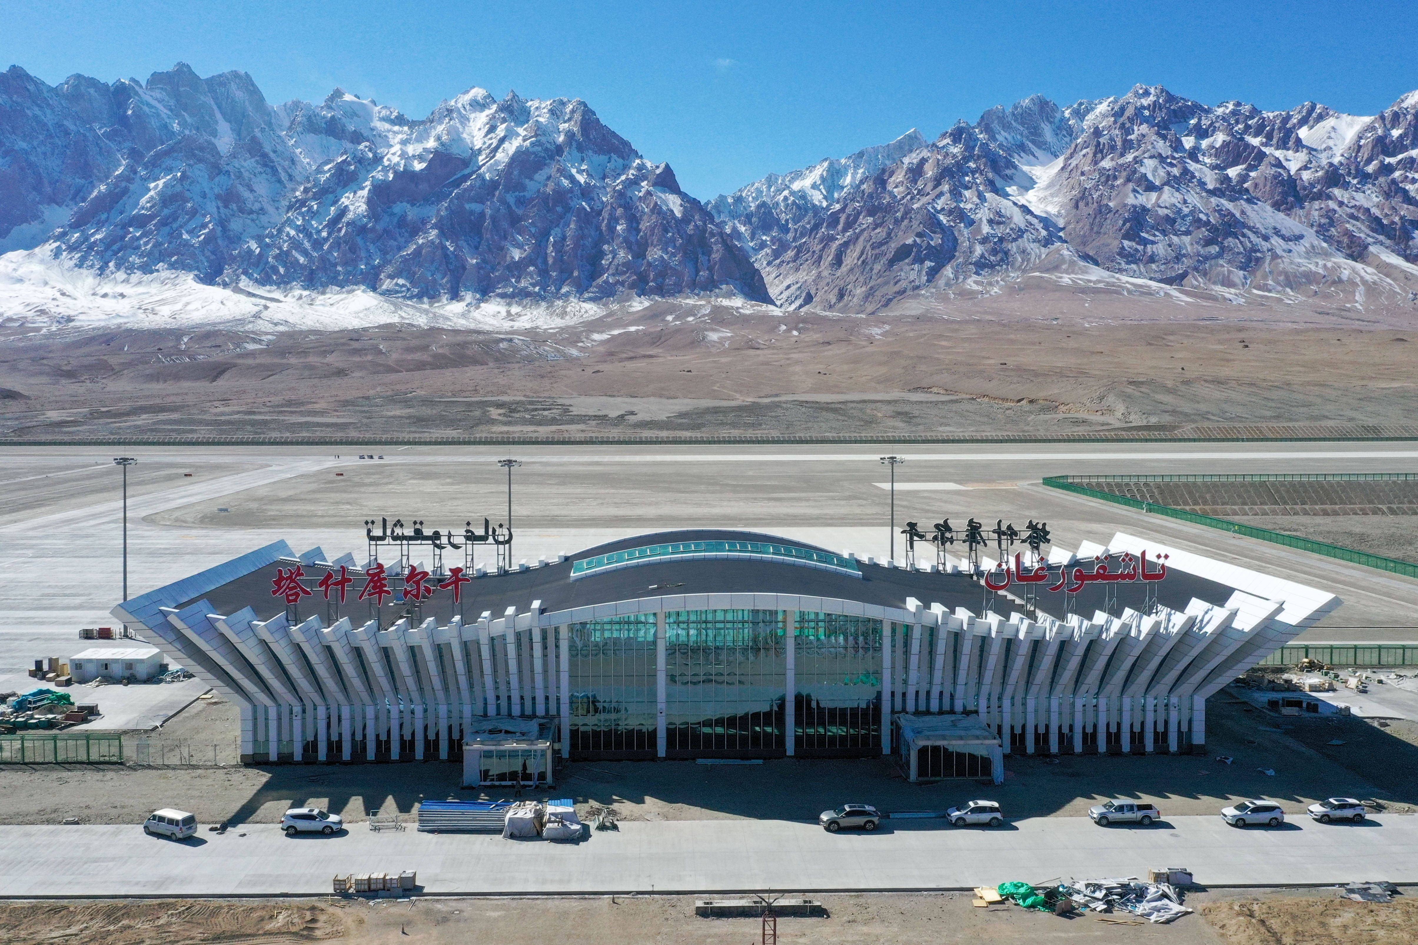
[[[1004,758],[1003,785],[974,778],[910,783],[893,758],[881,755],[777,758],[756,765],[570,761],[557,768],[554,786],[526,789],[523,796],[598,803],[615,808],[623,820],[815,822],[818,813],[842,803],[866,803],[883,812],[943,812],[973,799],[995,800],[1007,820],[1017,820],[1085,816],[1088,808],[1107,799],[1154,802],[1163,820],[1150,827],[1109,825],[1134,830],[1166,830],[1168,816],[1219,813],[1251,798],[1280,802],[1290,817],[1303,816],[1305,805],[1327,796],[1378,799],[1390,809],[1418,806],[1418,744],[1400,737],[1408,732],[1402,725],[1409,723],[1394,721],[1385,730],[1360,718],[1280,718],[1225,691],[1208,701],[1207,723],[1205,755],[1010,754]],[[1285,731],[1271,731],[1276,728]],[[1412,737],[1418,741],[1418,725],[1412,725]],[[1224,764],[1222,757],[1231,764]],[[461,788],[462,765],[437,759],[258,769],[267,775],[264,783],[230,813],[228,822],[271,823],[286,808],[319,806],[354,826],[370,810],[407,817],[424,799],[512,796],[508,786]],[[906,829],[903,823],[896,829]]]

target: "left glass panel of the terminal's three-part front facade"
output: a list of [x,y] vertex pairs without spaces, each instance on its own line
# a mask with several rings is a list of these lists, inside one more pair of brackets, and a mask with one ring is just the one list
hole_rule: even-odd
[[655,615],[573,623],[571,757],[655,757]]

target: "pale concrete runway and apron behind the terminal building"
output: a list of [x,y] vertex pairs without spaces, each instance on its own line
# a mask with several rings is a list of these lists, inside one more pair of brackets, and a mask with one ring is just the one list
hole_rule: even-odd
[[[515,557],[574,553],[676,527],[740,527],[886,557],[889,496],[875,483],[893,448],[519,448]],[[0,672],[68,656],[81,626],[106,626],[122,596],[121,475],[115,451],[0,452]],[[393,448],[384,459],[320,448],[139,448],[129,472],[130,594],[286,538],[363,560],[363,521],[430,527],[506,519],[505,451]],[[379,455],[377,451],[370,455]],[[902,452],[896,523],[967,517],[1049,523],[1055,543],[1129,531],[1339,594],[1346,604],[1307,639],[1418,639],[1418,581],[1045,489],[1066,473],[1418,472],[1407,443],[1168,443],[1096,449],[991,446]],[[187,477],[187,473],[191,477]],[[910,489],[954,483],[960,489]],[[896,555],[903,553],[896,538]]]

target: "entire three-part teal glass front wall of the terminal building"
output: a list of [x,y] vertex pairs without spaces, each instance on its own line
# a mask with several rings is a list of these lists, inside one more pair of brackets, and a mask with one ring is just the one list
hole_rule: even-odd
[[[666,757],[781,758],[790,737],[804,757],[881,752],[882,621],[797,613],[793,732],[786,629],[780,611],[665,613]],[[569,672],[573,757],[654,758],[655,615],[573,623]]]

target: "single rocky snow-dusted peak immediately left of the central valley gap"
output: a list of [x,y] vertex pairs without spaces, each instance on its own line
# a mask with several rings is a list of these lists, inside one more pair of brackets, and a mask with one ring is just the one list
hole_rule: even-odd
[[683,295],[761,276],[705,208],[580,101],[472,89],[326,162],[237,262],[254,282],[413,299]]

